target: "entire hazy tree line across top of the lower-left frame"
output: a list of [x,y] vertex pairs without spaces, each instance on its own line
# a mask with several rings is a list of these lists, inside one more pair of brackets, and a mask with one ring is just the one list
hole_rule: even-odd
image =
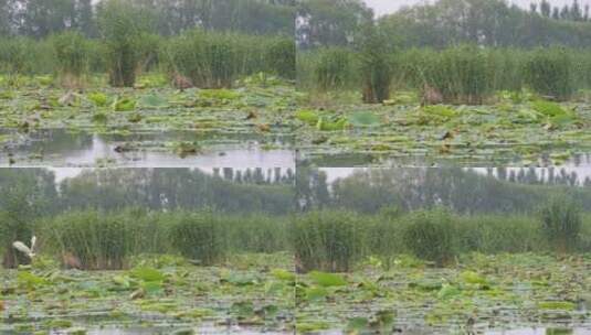
[[130,206],[155,210],[215,207],[273,214],[292,210],[295,176],[291,170],[276,170],[278,177],[274,180],[249,171],[244,175],[251,177],[238,179],[238,173],[225,170],[228,176],[234,177],[224,179],[191,169],[87,170],[56,187],[53,173],[46,170],[4,170],[0,172],[0,190],[3,194],[12,188],[23,190],[28,203],[48,204],[45,207],[52,212]]

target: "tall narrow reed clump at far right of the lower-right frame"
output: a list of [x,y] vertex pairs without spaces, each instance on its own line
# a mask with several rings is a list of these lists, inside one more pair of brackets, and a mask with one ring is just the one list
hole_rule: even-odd
[[571,196],[553,196],[541,209],[540,229],[548,242],[561,253],[577,248],[581,226],[581,210]]

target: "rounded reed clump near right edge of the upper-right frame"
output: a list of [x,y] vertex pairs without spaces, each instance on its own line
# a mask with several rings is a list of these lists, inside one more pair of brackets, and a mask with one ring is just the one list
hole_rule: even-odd
[[571,58],[564,48],[532,51],[523,73],[526,85],[540,95],[567,100],[574,91]]

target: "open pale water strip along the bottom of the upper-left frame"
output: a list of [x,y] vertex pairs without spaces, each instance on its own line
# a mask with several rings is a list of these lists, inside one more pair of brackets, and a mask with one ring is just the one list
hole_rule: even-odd
[[[19,137],[4,145],[0,166],[295,168],[295,151],[287,137],[198,136],[194,132],[123,136],[65,130],[43,130]],[[191,143],[194,151],[179,152],[178,143]]]

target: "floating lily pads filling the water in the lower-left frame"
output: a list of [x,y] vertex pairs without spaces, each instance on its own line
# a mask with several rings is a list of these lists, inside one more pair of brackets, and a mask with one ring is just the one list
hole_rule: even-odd
[[[243,332],[293,332],[293,283],[266,267],[295,275],[292,259],[283,253],[249,255],[223,268],[162,263],[108,272],[4,271],[0,329],[150,332],[166,325],[166,333],[219,333],[232,325]],[[224,278],[255,280],[244,284]]]

